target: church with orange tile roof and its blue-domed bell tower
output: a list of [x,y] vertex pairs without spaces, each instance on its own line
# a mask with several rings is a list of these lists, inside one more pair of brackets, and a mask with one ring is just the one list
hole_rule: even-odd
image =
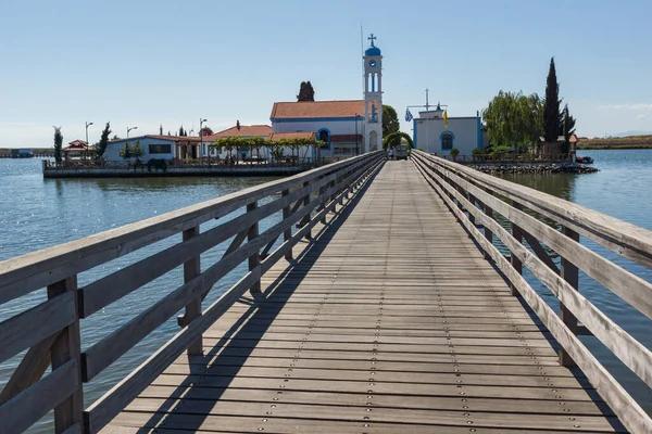
[[352,156],[383,148],[383,54],[376,37],[364,52],[364,99],[276,102],[273,133],[314,132],[326,145],[323,156]]

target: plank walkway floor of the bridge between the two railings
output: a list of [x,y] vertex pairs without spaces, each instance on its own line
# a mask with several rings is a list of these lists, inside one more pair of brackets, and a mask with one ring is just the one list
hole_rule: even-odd
[[104,432],[624,431],[410,162],[327,227]]

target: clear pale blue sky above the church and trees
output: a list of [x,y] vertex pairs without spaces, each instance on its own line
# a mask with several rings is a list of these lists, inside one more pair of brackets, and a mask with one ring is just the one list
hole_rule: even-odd
[[652,130],[650,16],[649,0],[2,0],[0,146],[50,146],[54,125],[84,138],[86,120],[91,142],[109,120],[122,137],[268,124],[302,80],[317,100],[359,99],[361,23],[401,118],[425,88],[450,116],[501,89],[542,95],[554,55],[580,136]]

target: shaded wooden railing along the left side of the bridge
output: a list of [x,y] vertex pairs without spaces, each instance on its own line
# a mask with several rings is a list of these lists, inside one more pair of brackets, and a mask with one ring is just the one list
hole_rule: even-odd
[[[0,322],[0,362],[28,349],[0,393],[0,432],[23,432],[54,409],[57,433],[97,433],[184,350],[201,354],[202,333],[247,291],[260,292],[261,276],[280,258],[291,258],[292,246],[310,238],[311,228],[383,161],[383,152],[365,154],[0,263],[0,305],[42,288],[48,294],[45,303]],[[279,213],[280,221],[261,232],[259,222]],[[78,288],[80,272],[179,233],[180,243]],[[229,240],[222,258],[202,272],[202,253]],[[243,261],[248,272],[202,311],[213,285]],[[180,286],[82,350],[80,321],[180,266]],[[85,410],[83,383],[184,308],[181,331]],[[41,379],[50,365],[51,373]]]

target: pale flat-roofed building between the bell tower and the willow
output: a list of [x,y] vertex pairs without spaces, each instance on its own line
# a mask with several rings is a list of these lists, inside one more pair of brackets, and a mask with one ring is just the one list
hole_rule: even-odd
[[472,155],[482,148],[480,117],[449,117],[447,126],[441,108],[419,112],[413,119],[413,141],[414,148],[431,154],[450,155],[455,148],[460,155]]

